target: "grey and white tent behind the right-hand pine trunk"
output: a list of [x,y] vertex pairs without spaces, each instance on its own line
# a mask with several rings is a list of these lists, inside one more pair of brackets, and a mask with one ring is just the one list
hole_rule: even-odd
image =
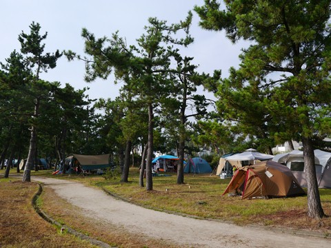
[[[319,188],[331,188],[331,153],[315,149],[314,155]],[[272,161],[286,165],[297,178],[300,186],[307,187],[302,151],[293,150],[292,152],[277,154],[272,158]]]

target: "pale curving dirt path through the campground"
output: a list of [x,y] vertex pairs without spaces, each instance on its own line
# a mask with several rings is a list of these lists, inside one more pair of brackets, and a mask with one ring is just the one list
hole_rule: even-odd
[[86,211],[86,215],[100,218],[110,228],[118,225],[132,234],[142,233],[179,246],[190,247],[331,247],[330,238],[294,236],[281,231],[259,227],[239,227],[212,220],[198,220],[160,211],[112,198],[101,189],[81,183],[54,178],[32,177],[51,187],[61,198]]

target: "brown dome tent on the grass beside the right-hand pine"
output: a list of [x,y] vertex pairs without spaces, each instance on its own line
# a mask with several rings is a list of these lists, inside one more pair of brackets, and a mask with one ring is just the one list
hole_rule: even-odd
[[263,161],[237,169],[223,195],[239,191],[243,199],[305,194],[290,169],[274,161]]

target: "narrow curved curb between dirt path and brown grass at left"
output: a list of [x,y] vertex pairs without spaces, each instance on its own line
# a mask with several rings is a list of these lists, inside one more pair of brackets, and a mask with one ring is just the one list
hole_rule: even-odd
[[81,240],[87,240],[92,245],[96,245],[96,246],[102,247],[102,248],[116,248],[116,247],[112,247],[111,245],[108,245],[106,242],[102,242],[100,240],[91,238],[85,234],[81,234],[79,231],[76,231],[76,230],[72,229],[71,227],[62,225],[57,220],[54,220],[52,217],[48,216],[48,214],[46,214],[43,210],[39,209],[39,207],[37,206],[36,203],[37,203],[37,199],[43,192],[43,186],[41,185],[41,183],[38,183],[38,185],[39,185],[38,192],[36,194],[34,194],[34,196],[32,198],[32,206],[34,207],[34,210],[37,212],[37,214],[39,214],[39,216],[41,216],[41,218],[43,218],[44,220],[48,221],[51,224],[57,225],[57,227],[59,227],[61,229],[61,231],[67,231],[68,233],[70,233],[74,236],[77,236],[78,238],[81,238]]

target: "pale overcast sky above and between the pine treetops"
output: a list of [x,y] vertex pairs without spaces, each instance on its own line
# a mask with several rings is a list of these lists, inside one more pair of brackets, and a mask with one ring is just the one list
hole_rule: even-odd
[[[143,27],[148,25],[148,17],[177,23],[184,20],[189,10],[202,6],[203,0],[1,0],[0,8],[0,61],[10,56],[13,50],[20,50],[19,34],[30,33],[32,21],[41,25],[41,34],[48,32],[46,52],[73,50],[83,54],[81,29],[87,28],[97,37],[110,37],[119,30],[127,43],[134,44]],[[238,55],[243,43],[233,45],[223,32],[211,32],[199,28],[199,17],[193,12],[191,28],[194,43],[185,53],[194,57],[200,72],[212,73],[222,70],[227,76],[230,66],[238,67]],[[75,89],[90,87],[87,94],[91,99],[111,98],[118,95],[121,85],[114,85],[112,78],[86,83],[83,80],[84,64],[80,61],[68,62],[61,57],[57,68],[42,74],[48,81],[59,81],[61,85],[70,83]]]

